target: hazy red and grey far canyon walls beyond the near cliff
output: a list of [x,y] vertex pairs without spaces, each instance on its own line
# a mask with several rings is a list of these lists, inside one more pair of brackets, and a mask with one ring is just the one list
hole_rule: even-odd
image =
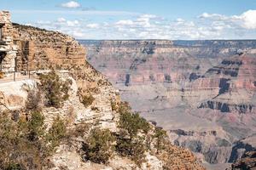
[[235,161],[255,133],[256,41],[80,42],[134,111],[202,161]]

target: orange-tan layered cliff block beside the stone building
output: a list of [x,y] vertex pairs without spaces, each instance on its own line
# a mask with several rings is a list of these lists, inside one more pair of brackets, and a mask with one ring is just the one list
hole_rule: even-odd
[[19,47],[18,71],[47,69],[49,66],[67,69],[73,65],[84,65],[85,50],[73,37],[14,24],[14,40]]

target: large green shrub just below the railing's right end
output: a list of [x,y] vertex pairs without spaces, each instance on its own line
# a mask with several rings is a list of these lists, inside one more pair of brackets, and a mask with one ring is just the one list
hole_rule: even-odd
[[40,75],[40,84],[38,85],[43,91],[46,98],[46,105],[55,108],[61,107],[63,101],[67,100],[68,90],[71,82],[62,81],[55,71],[50,71],[46,75]]

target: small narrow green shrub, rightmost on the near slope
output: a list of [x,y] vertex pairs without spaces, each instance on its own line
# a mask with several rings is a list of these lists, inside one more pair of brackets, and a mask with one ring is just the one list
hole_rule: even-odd
[[159,153],[160,150],[165,149],[165,139],[166,139],[166,131],[163,130],[161,127],[155,127],[154,128],[154,138],[156,139],[156,143],[154,144],[154,147],[157,150],[157,153]]

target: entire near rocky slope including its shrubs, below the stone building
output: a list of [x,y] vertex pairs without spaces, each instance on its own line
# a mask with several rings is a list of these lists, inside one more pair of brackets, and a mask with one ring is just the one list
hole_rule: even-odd
[[132,113],[72,37],[13,27],[17,69],[34,78],[0,79],[1,169],[204,169]]

